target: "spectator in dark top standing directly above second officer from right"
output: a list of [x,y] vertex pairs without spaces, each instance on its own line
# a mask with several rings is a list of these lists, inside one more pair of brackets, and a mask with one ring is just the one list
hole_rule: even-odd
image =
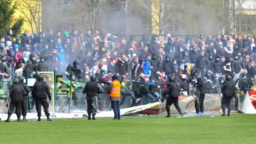
[[201,52],[200,54],[201,54],[201,56],[198,58],[198,60],[196,62],[196,68],[197,68],[198,74],[200,74],[202,77],[204,77],[206,74],[206,70],[207,70],[209,61],[208,61],[208,58],[206,56],[204,56],[204,52]]

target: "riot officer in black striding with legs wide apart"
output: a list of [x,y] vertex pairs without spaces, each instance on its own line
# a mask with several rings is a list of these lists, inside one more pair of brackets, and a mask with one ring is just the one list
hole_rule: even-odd
[[[168,94],[168,98],[166,100],[166,111],[167,111],[167,116],[166,117],[171,117],[170,115],[170,106],[172,104],[174,104],[175,108],[177,109],[177,111],[180,113],[181,116],[181,110],[180,107],[178,105],[179,103],[179,95],[180,95],[180,88],[177,84],[177,82],[174,82],[175,78],[173,76],[170,76],[168,81],[168,85],[167,85],[167,89],[164,92],[164,95]],[[164,102],[164,99],[161,99],[162,102]]]

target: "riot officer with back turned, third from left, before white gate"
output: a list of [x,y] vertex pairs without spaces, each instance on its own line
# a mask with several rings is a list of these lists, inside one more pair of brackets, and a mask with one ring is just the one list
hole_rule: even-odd
[[44,76],[39,74],[37,77],[37,82],[35,82],[33,89],[32,89],[32,97],[36,100],[36,111],[38,120],[41,121],[41,107],[44,107],[44,113],[47,117],[47,121],[52,121],[49,116],[50,113],[48,111],[49,104],[47,102],[47,95],[50,100],[52,100],[52,95],[50,93],[50,88],[46,82],[44,82]]

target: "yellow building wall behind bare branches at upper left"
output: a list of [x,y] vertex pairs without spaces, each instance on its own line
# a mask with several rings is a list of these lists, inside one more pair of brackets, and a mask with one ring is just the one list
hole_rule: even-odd
[[41,0],[20,0],[18,11],[24,16],[25,22],[30,24],[32,33],[39,33],[41,30]]

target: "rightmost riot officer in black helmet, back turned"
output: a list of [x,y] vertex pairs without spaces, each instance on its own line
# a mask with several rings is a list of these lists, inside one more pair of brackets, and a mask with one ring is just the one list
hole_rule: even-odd
[[228,115],[230,116],[231,111],[231,100],[233,99],[234,92],[236,90],[235,83],[232,81],[232,78],[230,75],[226,75],[226,81],[223,82],[221,90],[222,90],[222,100],[221,100],[221,107],[223,114],[221,116],[226,116],[226,106],[228,108]]

